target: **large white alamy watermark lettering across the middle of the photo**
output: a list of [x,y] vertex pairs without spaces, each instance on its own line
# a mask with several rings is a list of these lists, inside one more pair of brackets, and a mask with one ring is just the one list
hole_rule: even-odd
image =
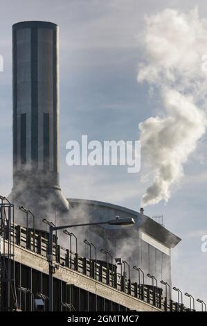
[[70,140],[66,143],[69,153],[66,164],[69,166],[127,166],[128,173],[138,173],[141,169],[141,142],[135,141],[103,141],[88,142],[87,135],[82,135],[81,144]]

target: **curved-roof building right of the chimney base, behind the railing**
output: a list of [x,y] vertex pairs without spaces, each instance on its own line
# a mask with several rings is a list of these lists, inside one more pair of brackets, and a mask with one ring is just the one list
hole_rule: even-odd
[[[87,229],[84,237],[93,243],[98,243],[100,248],[109,250],[112,257],[123,257],[130,266],[142,266],[145,275],[150,273],[157,280],[165,280],[171,284],[171,249],[181,241],[179,237],[152,218],[145,216],[142,210],[135,212],[132,209],[96,200],[70,198],[69,203],[72,215],[73,209],[87,212],[90,221],[107,221],[114,216],[134,218],[134,228],[98,225],[96,228]],[[137,272],[133,269],[131,274],[137,276]],[[147,279],[146,282],[152,283]]]

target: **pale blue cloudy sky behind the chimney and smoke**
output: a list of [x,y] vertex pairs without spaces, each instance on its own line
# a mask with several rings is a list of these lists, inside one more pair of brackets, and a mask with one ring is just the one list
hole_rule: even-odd
[[[182,2],[182,3],[181,3]],[[158,102],[146,84],[138,85],[143,55],[137,35],[143,17],[165,8],[189,10],[197,5],[207,17],[204,1],[43,0],[1,1],[0,54],[0,193],[12,187],[12,24],[46,20],[60,26],[61,185],[67,198],[89,198],[139,209],[144,187],[141,173],[125,167],[66,166],[66,142],[138,139],[138,123],[154,116]],[[168,204],[148,206],[149,216],[163,214],[165,227],[182,238],[172,250],[172,281],[207,301],[207,252],[201,252],[206,223],[206,139],[185,166],[185,177]]]

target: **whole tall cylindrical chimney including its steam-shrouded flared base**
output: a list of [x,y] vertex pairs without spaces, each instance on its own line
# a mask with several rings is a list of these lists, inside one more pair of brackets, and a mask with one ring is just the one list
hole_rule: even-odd
[[12,200],[42,218],[69,205],[59,180],[58,26],[19,22],[12,33]]

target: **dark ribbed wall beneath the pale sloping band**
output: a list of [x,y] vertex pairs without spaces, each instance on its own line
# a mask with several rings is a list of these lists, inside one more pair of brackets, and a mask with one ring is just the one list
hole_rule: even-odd
[[[15,261],[15,283],[19,310],[34,311],[34,298],[43,298],[44,311],[48,311],[48,275]],[[53,291],[54,311],[129,311],[120,304],[55,278]]]

